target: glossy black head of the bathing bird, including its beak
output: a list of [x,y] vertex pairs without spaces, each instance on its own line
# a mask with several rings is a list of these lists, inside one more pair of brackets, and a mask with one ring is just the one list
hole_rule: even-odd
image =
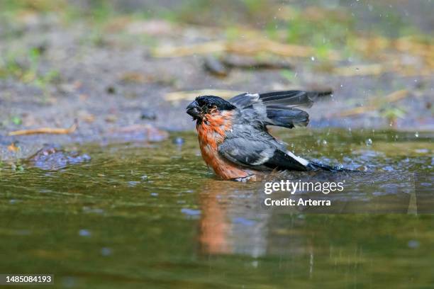
[[218,96],[198,96],[187,106],[187,113],[194,120],[201,120],[204,115],[212,111],[231,111],[236,107]]

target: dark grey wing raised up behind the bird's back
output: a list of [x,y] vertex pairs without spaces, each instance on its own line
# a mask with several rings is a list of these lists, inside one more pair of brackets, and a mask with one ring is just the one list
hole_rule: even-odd
[[241,111],[254,110],[265,125],[284,128],[306,126],[309,115],[296,107],[310,108],[319,96],[328,96],[332,91],[275,91],[266,94],[239,94],[229,101]]

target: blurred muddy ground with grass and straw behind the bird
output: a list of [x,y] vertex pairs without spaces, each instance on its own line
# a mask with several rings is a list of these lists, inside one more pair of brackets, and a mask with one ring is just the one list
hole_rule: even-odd
[[433,8],[430,0],[2,0],[3,152],[14,140],[6,132],[74,120],[80,140],[120,128],[158,139],[159,130],[193,129],[184,107],[195,96],[240,91],[333,89],[309,111],[313,128],[433,130]]

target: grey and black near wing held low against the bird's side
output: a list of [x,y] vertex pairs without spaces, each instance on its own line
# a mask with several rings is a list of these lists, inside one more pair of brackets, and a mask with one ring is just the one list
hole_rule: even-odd
[[252,169],[308,170],[308,161],[291,152],[284,152],[273,142],[276,141],[230,137],[218,146],[218,153],[230,162]]

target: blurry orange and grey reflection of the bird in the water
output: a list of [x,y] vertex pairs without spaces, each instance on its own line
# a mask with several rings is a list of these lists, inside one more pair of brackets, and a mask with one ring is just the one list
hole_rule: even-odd
[[206,254],[264,254],[267,215],[258,215],[261,183],[209,180],[200,193],[201,251]]

